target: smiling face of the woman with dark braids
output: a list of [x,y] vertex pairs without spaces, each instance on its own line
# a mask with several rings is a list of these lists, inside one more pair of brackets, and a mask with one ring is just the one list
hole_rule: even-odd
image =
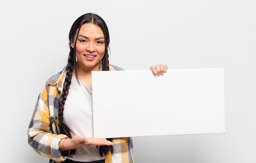
[[[71,42],[73,48],[74,42],[75,40]],[[76,40],[78,67],[99,71],[104,53],[105,38],[101,28],[92,23],[83,24]]]

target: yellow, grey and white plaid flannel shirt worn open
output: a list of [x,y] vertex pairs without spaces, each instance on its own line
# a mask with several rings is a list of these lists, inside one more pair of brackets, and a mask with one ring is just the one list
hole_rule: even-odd
[[[124,70],[109,64],[110,71]],[[50,159],[49,163],[64,163],[69,150],[59,150],[59,141],[66,135],[59,133],[59,98],[62,93],[63,71],[47,80],[38,96],[36,106],[27,130],[29,145],[41,156]],[[132,138],[112,138],[113,153],[105,155],[105,163],[134,163]]]

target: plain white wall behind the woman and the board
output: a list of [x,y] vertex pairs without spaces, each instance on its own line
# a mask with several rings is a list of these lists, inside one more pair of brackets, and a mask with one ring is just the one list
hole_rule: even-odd
[[256,162],[255,0],[2,0],[1,159],[48,162],[27,127],[45,81],[66,64],[72,23],[88,12],[109,27],[113,65],[225,68],[226,133],[134,137],[136,163]]

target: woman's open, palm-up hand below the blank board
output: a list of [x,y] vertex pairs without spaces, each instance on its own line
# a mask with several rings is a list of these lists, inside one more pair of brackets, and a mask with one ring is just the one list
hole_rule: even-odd
[[114,145],[114,143],[108,141],[106,138],[87,138],[80,135],[76,135],[73,138],[63,138],[59,142],[61,151],[72,150],[88,145]]

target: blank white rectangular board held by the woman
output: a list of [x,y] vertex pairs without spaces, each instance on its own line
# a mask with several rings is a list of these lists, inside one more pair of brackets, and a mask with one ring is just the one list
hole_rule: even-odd
[[92,71],[95,138],[225,133],[224,69]]

